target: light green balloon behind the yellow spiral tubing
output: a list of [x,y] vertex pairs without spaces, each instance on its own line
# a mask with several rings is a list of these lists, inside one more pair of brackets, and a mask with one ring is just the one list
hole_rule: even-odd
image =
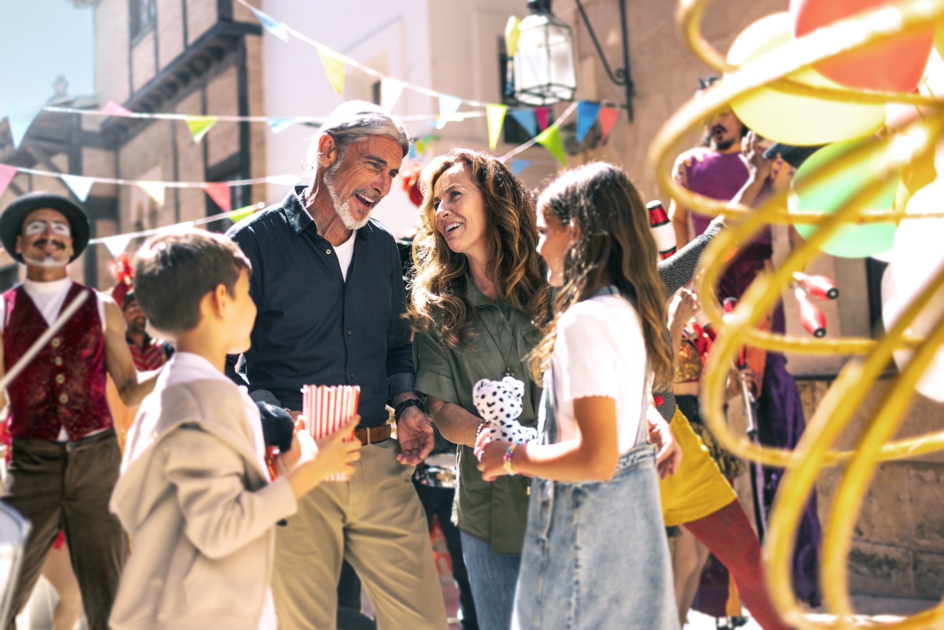
[[[791,192],[787,202],[789,211],[820,211],[835,213],[855,196],[861,187],[872,179],[873,166],[870,160],[860,160],[847,166],[833,177],[818,185],[809,188],[799,196],[795,185],[809,177],[815,170],[827,162],[832,162],[847,151],[869,142],[868,140],[847,140],[834,145],[826,145],[803,162],[791,184]],[[864,210],[891,210],[895,200],[895,190],[898,188],[898,177],[888,181],[885,189],[868,203]],[[798,223],[794,227],[800,235],[808,239],[815,234],[819,227]],[[865,258],[873,254],[888,251],[895,239],[895,230],[898,226],[894,222],[868,223],[863,225],[845,225],[833,233],[826,243],[820,247],[822,251],[841,258]]]

